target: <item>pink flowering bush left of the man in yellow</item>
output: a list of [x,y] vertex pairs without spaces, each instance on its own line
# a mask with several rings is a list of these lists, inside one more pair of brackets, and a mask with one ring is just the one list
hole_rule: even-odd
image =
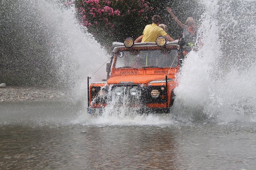
[[80,22],[99,42],[137,38],[152,8],[145,0],[76,0]]

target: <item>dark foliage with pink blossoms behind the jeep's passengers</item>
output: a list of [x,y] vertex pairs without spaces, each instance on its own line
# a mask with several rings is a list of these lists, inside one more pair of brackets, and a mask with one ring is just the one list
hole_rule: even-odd
[[107,49],[113,41],[139,37],[144,27],[151,24],[154,14],[161,16],[162,23],[168,26],[167,33],[176,39],[182,30],[166,6],[170,6],[183,23],[189,16],[199,22],[203,9],[197,0],[77,0],[76,6],[82,25]]

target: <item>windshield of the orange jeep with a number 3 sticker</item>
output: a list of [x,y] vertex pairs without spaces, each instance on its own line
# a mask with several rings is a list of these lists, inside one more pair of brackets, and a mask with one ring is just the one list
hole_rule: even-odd
[[115,68],[177,67],[178,50],[118,51]]

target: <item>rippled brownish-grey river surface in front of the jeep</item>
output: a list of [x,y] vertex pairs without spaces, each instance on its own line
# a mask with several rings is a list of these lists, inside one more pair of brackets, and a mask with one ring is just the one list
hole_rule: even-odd
[[[2,103],[0,169],[256,167],[256,123],[182,122],[147,115],[123,117],[130,121],[108,125],[82,108],[67,103]],[[151,123],[156,121],[160,123]]]

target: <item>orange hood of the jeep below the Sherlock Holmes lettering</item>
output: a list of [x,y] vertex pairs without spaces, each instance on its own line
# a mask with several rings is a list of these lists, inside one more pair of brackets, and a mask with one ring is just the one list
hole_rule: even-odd
[[[174,79],[174,75],[169,75],[168,79]],[[165,75],[121,75],[111,77],[108,84],[147,84],[155,80],[165,80]]]

